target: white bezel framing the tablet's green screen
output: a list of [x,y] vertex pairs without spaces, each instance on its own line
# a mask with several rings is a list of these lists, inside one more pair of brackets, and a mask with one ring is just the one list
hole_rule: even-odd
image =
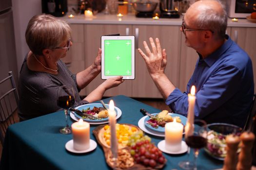
[[129,35],[129,36],[101,36],[101,79],[105,80],[111,77],[116,77],[119,75],[112,75],[112,76],[106,76],[105,73],[105,46],[104,46],[104,40],[131,40],[132,41],[132,75],[126,76],[126,75],[120,75],[123,76],[124,80],[134,80],[135,79],[135,36]]

